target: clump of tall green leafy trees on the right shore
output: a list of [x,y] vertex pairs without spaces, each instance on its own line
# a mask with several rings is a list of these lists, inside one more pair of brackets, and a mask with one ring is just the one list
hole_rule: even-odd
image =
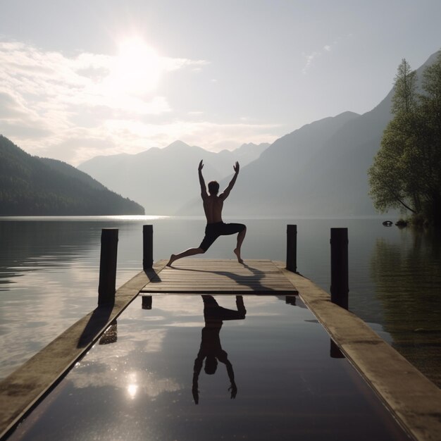
[[370,194],[378,211],[411,211],[441,225],[441,52],[423,73],[422,94],[416,80],[403,59],[395,77],[394,118],[368,170]]

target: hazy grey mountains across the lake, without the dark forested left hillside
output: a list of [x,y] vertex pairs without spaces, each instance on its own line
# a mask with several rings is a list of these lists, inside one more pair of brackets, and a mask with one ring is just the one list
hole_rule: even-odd
[[[436,56],[418,68],[420,84],[423,69]],[[242,161],[225,215],[374,215],[367,170],[392,118],[393,94],[392,88],[363,115],[344,112],[304,125],[263,149],[254,161]],[[222,189],[231,178],[232,164],[241,160],[238,153],[228,154],[225,168],[219,165],[220,154],[178,141],[134,156],[99,157],[79,168],[139,201],[147,213],[201,215],[197,164],[204,159],[206,182],[219,180]]]

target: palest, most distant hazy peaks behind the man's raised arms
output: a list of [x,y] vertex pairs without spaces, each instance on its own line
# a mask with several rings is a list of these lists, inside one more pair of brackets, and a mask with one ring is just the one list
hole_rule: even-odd
[[[232,172],[235,161],[246,166],[269,144],[243,144],[234,151],[218,153],[175,141],[168,147],[153,147],[139,154],[97,156],[78,166],[106,187],[138,201],[148,214],[175,214],[199,194],[197,167],[204,160],[204,173],[221,180]],[[196,193],[195,193],[196,192]]]

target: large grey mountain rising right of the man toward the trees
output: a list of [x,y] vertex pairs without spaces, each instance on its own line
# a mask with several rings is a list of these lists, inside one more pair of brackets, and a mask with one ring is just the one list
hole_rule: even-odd
[[[423,70],[416,70],[421,87]],[[242,170],[225,213],[366,216],[375,213],[367,170],[380,148],[394,90],[371,111],[342,113],[285,135]],[[221,182],[221,187],[228,183]],[[193,202],[183,212],[195,212]]]

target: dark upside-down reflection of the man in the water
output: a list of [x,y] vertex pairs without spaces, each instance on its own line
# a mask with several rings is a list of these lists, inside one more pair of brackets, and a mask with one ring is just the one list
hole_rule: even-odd
[[205,359],[205,373],[212,375],[216,372],[218,361],[225,364],[227,368],[228,378],[230,378],[231,398],[235,398],[237,394],[237,386],[235,383],[235,373],[232,371],[232,364],[228,360],[228,354],[222,349],[221,332],[224,320],[240,320],[245,318],[247,310],[244,306],[242,296],[236,296],[237,311],[226,309],[218,305],[213,296],[203,295],[204,300],[204,319],[205,327],[202,329],[201,348],[194,360],[193,369],[193,398],[195,404],[199,403],[199,390],[197,390],[197,381],[199,373],[201,373],[202,364]]

